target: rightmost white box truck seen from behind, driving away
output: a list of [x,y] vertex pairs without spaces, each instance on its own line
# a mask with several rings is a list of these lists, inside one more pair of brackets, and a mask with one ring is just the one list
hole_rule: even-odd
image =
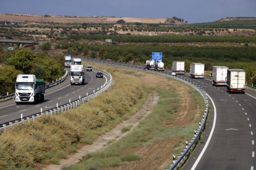
[[245,71],[242,69],[228,69],[227,92],[245,92]]

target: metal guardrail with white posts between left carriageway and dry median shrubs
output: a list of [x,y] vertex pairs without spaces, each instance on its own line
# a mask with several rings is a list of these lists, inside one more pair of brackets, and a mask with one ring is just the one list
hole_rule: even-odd
[[[96,68],[94,68],[94,69],[96,69]],[[96,69],[96,70],[99,70],[99,69]],[[41,116],[41,115],[56,115],[56,113],[60,113],[61,111],[66,111],[66,110],[75,108],[75,107],[77,107],[77,106],[79,106],[79,105],[81,105],[85,102],[88,102],[88,100],[91,100],[91,99],[95,98],[97,95],[106,91],[111,86],[111,84],[113,82],[112,75],[108,71],[105,71],[105,70],[100,70],[100,71],[102,71],[102,72],[104,72],[104,73],[106,73],[107,75],[110,76],[110,80],[107,81],[105,86],[101,86],[96,91],[93,91],[93,93],[87,94],[86,96],[83,96],[83,97],[79,96],[79,99],[70,101],[69,103],[65,103],[64,105],[60,105],[59,107],[55,107],[55,108],[51,108],[49,110],[41,111],[39,113],[35,113],[33,115],[26,116],[26,117],[20,118],[20,119],[15,119],[15,120],[9,121],[7,123],[2,123],[2,124],[0,124],[0,131],[6,132],[7,127],[14,126],[15,124],[22,123],[23,121],[35,120],[36,118],[38,118],[38,116]],[[54,84],[54,83],[51,83],[51,84]],[[48,84],[48,85],[51,86],[50,84]]]

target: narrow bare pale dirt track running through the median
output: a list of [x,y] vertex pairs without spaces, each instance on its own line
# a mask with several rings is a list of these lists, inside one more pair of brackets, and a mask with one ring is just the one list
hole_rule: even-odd
[[96,150],[100,150],[101,148],[105,148],[108,145],[110,145],[109,141],[117,141],[121,139],[121,137],[125,136],[128,132],[122,133],[122,128],[132,125],[133,129],[135,126],[139,124],[139,121],[141,121],[145,116],[147,116],[151,110],[157,105],[158,103],[158,94],[151,93],[148,95],[147,101],[143,105],[143,107],[135,113],[130,119],[123,121],[122,123],[118,124],[116,127],[114,127],[113,130],[107,132],[105,135],[98,137],[95,142],[93,142],[92,145],[85,145],[82,148],[79,149],[77,153],[74,155],[69,155],[67,159],[62,159],[59,161],[59,164],[49,164],[46,166],[46,168],[43,169],[61,169],[62,166],[70,166],[75,163],[79,163],[83,156],[87,155],[88,153],[95,152]]

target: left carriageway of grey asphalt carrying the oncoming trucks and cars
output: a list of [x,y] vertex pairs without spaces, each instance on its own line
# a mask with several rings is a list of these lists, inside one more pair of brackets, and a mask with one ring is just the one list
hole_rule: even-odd
[[93,90],[98,87],[104,86],[109,81],[109,76],[104,75],[103,78],[95,78],[97,70],[85,71],[85,84],[84,85],[70,85],[70,76],[57,86],[46,89],[45,102],[37,104],[20,104],[16,105],[15,100],[8,100],[0,103],[0,123],[7,123],[14,119],[19,119],[21,116],[33,115],[40,113],[40,111],[49,110],[57,105],[64,105],[70,101],[84,97],[91,94]]

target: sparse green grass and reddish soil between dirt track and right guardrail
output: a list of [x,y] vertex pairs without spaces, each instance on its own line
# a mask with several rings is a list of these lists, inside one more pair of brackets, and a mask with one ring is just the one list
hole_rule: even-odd
[[[172,161],[171,156],[178,155],[185,141],[192,139],[205,107],[202,96],[171,79],[132,72],[150,91],[158,93],[158,105],[127,136],[104,150],[89,153],[82,163],[65,170],[165,169]],[[149,84],[148,78],[151,79]]]

